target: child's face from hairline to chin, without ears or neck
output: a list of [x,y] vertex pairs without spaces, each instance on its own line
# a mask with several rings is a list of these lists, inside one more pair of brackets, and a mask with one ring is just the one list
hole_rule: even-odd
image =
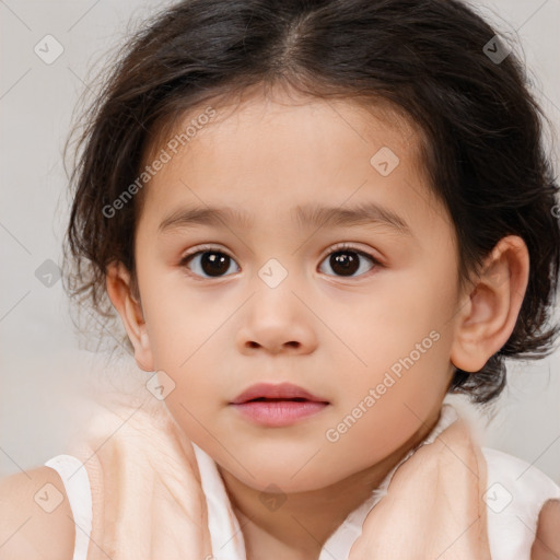
[[[411,129],[339,102],[283,103],[254,98],[206,125],[145,187],[136,258],[147,337],[137,360],[165,372],[165,390],[173,380],[167,407],[223,468],[256,489],[302,491],[366,469],[433,425],[462,294],[453,228],[429,196]],[[384,147],[397,166],[386,150],[371,162]],[[308,221],[318,207],[365,205],[397,214],[408,233],[380,217]],[[180,210],[214,207],[246,223],[160,230]],[[203,244],[226,256],[180,265]],[[261,425],[230,404],[260,382],[329,404]]]

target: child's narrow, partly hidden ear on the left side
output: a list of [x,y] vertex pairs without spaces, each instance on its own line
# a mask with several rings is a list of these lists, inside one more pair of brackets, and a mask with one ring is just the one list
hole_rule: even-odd
[[122,262],[110,262],[107,267],[107,293],[120,315],[128,338],[135,348],[135,360],[145,372],[154,371],[153,355],[150,346],[142,306],[132,293],[130,272]]

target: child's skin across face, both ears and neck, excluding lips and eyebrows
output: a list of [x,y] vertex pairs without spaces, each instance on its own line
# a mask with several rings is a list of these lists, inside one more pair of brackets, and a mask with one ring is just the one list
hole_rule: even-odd
[[[505,343],[528,254],[520,237],[504,237],[459,289],[453,224],[430,195],[413,127],[387,107],[253,93],[234,110],[217,106],[219,118],[144,187],[139,298],[118,262],[107,290],[138,365],[173,380],[166,406],[217,462],[248,558],[313,559],[436,423],[453,366],[476,372]],[[382,147],[399,158],[387,176],[370,163]],[[411,235],[383,224],[300,226],[292,214],[298,205],[366,201],[396,212]],[[191,206],[245,210],[253,223],[159,233],[170,213]],[[341,242],[360,259],[350,277],[328,258]],[[187,252],[208,250],[201,244],[231,257],[221,277],[209,276],[200,254],[182,264]],[[271,258],[288,273],[273,289],[259,277]],[[328,441],[326,431],[431,331],[438,341]],[[257,382],[291,382],[329,405],[289,427],[260,427],[229,406]],[[265,498],[284,501],[270,510]]]

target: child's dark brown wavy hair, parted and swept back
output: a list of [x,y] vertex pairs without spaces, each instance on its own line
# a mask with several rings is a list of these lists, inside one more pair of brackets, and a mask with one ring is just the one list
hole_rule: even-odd
[[[431,189],[456,231],[459,280],[509,234],[528,247],[528,287],[510,339],[480,372],[457,370],[451,386],[490,401],[504,387],[504,359],[548,355],[560,328],[550,326],[560,228],[541,138],[546,119],[517,56],[491,56],[505,45],[492,43],[495,35],[457,0],[188,0],[155,15],[126,43],[83,115],[65,289],[93,306],[102,330],[115,337],[106,267],[119,260],[136,281],[142,196],[115,215],[106,209],[182,115],[258,84],[372,105],[382,100],[422,131]],[[122,343],[131,349],[126,336]]]

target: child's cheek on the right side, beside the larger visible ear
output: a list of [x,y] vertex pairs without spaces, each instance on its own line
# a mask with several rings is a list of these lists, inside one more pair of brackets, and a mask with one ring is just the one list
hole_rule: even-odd
[[372,298],[348,326],[349,346],[360,360],[348,366],[337,418],[352,425],[340,438],[346,451],[370,441],[372,453],[383,455],[404,443],[445,396],[455,294],[429,275],[413,281],[394,276],[380,292],[384,296]]

